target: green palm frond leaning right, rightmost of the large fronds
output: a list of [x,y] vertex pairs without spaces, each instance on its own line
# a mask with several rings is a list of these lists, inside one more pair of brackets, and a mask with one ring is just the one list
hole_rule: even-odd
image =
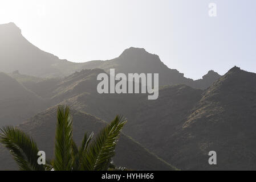
[[83,152],[82,169],[84,170],[107,170],[111,162],[111,158],[115,154],[115,147],[126,121],[117,116],[109,123],[95,140]]

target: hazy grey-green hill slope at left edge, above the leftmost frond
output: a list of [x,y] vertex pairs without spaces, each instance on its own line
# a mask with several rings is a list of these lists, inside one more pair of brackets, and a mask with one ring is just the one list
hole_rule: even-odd
[[0,73],[0,126],[21,123],[46,107],[46,101],[14,78]]

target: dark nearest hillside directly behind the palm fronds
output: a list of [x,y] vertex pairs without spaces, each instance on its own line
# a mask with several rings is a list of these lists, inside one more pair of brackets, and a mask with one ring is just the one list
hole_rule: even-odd
[[[27,122],[19,125],[19,129],[25,131],[38,144],[39,150],[46,152],[46,158],[52,159],[54,154],[54,139],[56,126],[56,107],[52,107],[35,115]],[[96,133],[103,128],[106,123],[90,114],[72,110],[74,120],[74,140],[81,143],[85,132]],[[17,169],[17,166],[9,151],[0,146],[0,170]],[[116,155],[113,158],[116,166],[124,166],[129,169],[137,170],[173,170],[176,169],[164,160],[149,152],[131,137],[121,134],[119,143],[116,147]]]

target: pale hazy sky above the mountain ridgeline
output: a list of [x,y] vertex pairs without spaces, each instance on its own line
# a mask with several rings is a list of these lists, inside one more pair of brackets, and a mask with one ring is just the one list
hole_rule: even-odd
[[0,24],[14,22],[60,59],[108,60],[139,47],[195,79],[234,65],[256,72],[255,8],[255,0],[1,0]]

